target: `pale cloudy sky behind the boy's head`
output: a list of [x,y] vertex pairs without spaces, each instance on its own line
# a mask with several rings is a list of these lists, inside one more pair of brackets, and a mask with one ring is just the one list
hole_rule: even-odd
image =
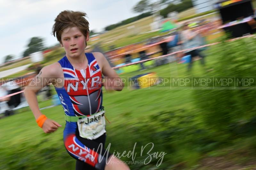
[[0,63],[6,55],[22,57],[30,38],[44,39],[46,47],[58,43],[51,34],[54,19],[64,10],[87,13],[90,30],[138,15],[132,7],[140,0],[0,0]]

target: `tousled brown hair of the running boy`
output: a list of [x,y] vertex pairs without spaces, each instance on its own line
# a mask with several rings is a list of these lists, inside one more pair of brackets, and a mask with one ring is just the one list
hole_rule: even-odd
[[[52,26],[52,34],[61,43],[61,34],[68,27],[78,27],[86,38],[89,34],[89,22],[84,18],[86,13],[79,11],[62,11],[55,18],[55,23]],[[87,43],[85,42],[85,47]]]

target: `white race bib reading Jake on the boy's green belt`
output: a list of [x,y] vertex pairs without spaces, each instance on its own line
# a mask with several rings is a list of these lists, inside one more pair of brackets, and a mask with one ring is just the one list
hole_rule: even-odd
[[80,137],[86,139],[97,139],[106,132],[105,111],[98,112],[91,116],[77,121]]

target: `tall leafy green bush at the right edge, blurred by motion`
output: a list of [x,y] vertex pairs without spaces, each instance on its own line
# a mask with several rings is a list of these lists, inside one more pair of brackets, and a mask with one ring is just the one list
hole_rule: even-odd
[[[212,48],[214,70],[205,77],[215,78],[208,84],[215,89],[194,91],[195,103],[202,109],[205,124],[223,141],[252,135],[256,130],[255,78],[246,86],[241,81],[255,75],[255,43],[254,38],[244,38],[222,41]],[[228,78],[229,86],[217,83],[217,78]]]

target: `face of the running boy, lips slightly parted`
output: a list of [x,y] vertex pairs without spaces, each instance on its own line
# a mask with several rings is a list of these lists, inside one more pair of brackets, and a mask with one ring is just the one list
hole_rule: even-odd
[[61,34],[61,46],[64,47],[68,57],[77,58],[84,56],[85,42],[89,40],[89,34],[84,37],[77,27],[68,27]]

